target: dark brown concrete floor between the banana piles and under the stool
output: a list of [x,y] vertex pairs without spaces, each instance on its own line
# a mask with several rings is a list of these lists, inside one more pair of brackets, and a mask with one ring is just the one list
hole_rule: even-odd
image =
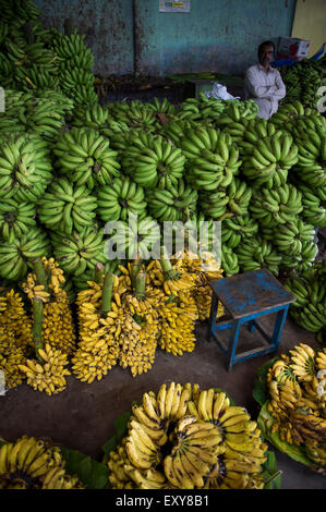
[[[265,317],[262,326],[266,332],[271,332],[273,315]],[[113,435],[116,417],[130,411],[132,401],[140,400],[145,391],[157,392],[162,382],[172,380],[198,382],[203,389],[221,388],[256,418],[258,405],[252,398],[255,373],[273,355],[239,363],[228,373],[217,344],[207,342],[206,330],[206,322],[197,326],[197,344],[193,353],[174,357],[157,351],[152,370],[136,378],[129,370],[114,367],[101,381],[92,385],[69,377],[68,389],[53,397],[34,391],[26,385],[10,390],[5,397],[0,397],[0,437],[13,441],[23,434],[46,436],[55,443],[100,460],[100,447]],[[243,330],[242,337],[246,349],[257,341],[261,345],[262,338],[256,332]],[[299,328],[288,316],[279,353],[299,342],[321,346],[313,333]],[[278,451],[276,458],[278,468],[282,471],[282,489],[326,488],[325,476]]]

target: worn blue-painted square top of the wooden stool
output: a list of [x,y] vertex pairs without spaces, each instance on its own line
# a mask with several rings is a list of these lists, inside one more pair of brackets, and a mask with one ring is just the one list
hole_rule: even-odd
[[267,269],[216,279],[209,285],[233,318],[243,318],[295,301]]

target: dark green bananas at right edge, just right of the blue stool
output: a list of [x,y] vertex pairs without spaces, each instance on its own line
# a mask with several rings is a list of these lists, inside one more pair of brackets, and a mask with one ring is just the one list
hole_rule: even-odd
[[316,332],[317,340],[326,341],[326,261],[316,261],[304,272],[291,275],[285,287],[297,301],[290,306],[290,315],[295,322],[311,332]]

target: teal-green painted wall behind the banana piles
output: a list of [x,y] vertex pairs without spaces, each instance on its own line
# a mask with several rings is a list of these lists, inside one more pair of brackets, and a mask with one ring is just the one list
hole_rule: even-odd
[[217,71],[241,74],[262,40],[290,36],[295,0],[191,0],[190,13],[160,13],[158,0],[36,0],[47,26],[73,16],[104,75]]

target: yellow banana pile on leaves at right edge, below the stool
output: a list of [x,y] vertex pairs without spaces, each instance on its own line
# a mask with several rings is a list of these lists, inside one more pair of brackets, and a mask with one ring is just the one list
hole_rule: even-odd
[[271,431],[281,440],[305,447],[306,455],[326,466],[326,352],[300,343],[282,354],[267,373],[267,410]]

